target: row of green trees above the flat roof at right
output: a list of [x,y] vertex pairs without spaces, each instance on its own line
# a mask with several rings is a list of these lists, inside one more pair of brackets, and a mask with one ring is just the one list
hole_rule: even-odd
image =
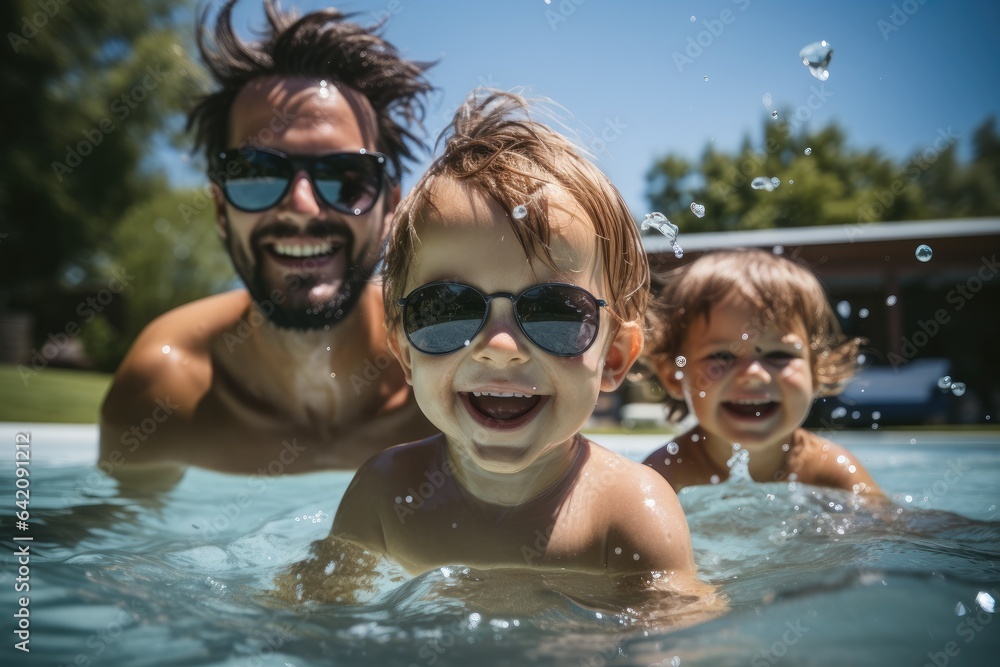
[[[706,149],[697,164],[676,155],[657,160],[646,176],[647,196],[653,210],[688,232],[996,215],[994,119],[976,130],[969,164],[959,163],[957,148],[957,138],[941,132],[934,144],[896,163],[878,149],[851,148],[837,125],[795,134],[768,120],[760,148],[747,138],[735,154]],[[780,183],[755,189],[757,177]],[[689,211],[691,202],[705,206],[704,218]]]

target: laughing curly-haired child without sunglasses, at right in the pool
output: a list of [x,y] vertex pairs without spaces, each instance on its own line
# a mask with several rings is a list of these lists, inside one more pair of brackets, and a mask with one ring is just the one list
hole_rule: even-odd
[[745,457],[758,482],[797,480],[882,496],[858,459],[802,428],[813,400],[857,367],[816,276],[757,249],[717,251],[671,272],[650,304],[648,354],[675,422],[697,425],[645,464],[676,491],[723,481]]

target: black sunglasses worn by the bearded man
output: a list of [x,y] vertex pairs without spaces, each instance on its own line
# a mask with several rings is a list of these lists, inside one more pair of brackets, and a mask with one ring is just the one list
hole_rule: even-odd
[[378,201],[386,182],[388,159],[363,149],[327,155],[288,155],[273,148],[227,148],[212,164],[212,179],[226,200],[249,213],[276,206],[300,170],[309,174],[313,192],[336,211],[363,215]]

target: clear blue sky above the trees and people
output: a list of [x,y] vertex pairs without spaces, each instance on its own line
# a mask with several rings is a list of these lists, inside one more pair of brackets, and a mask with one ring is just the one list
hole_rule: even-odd
[[[284,0],[301,12],[329,5]],[[429,143],[476,86],[526,86],[572,114],[569,126],[639,217],[645,174],[668,153],[696,160],[710,143],[734,151],[759,138],[771,109],[793,126],[839,123],[851,145],[902,159],[939,132],[959,137],[1000,111],[993,2],[943,0],[354,0],[359,23],[385,18],[385,37],[414,60],[439,61]],[[244,0],[238,30],[260,26]],[[830,76],[798,58],[811,42],[834,49]],[[991,74],[992,72],[992,74]],[[708,77],[707,80],[705,77]],[[771,107],[765,106],[765,95]],[[426,166],[427,157],[415,172]],[[176,164],[176,162],[175,162]],[[174,175],[190,182],[179,172]],[[415,174],[404,180],[412,185]]]

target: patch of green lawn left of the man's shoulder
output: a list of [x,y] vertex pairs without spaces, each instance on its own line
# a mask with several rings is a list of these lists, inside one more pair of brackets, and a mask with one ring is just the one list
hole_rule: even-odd
[[22,378],[17,366],[0,366],[0,421],[94,424],[108,373],[46,368]]

